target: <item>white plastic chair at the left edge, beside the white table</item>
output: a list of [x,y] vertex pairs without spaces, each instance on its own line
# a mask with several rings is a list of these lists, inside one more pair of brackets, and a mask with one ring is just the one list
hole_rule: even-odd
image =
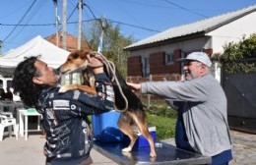
[[6,127],[8,127],[9,136],[12,137],[12,126],[14,129],[15,137],[16,139],[18,139],[18,128],[16,126],[16,119],[13,118],[12,115],[8,117],[7,115],[0,113],[0,141],[3,140],[4,130]]

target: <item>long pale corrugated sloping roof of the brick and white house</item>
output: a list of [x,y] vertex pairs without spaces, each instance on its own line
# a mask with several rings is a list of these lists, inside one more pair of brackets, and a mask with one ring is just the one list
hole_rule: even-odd
[[180,27],[171,27],[153,36],[135,42],[125,47],[124,50],[138,50],[141,48],[152,47],[158,43],[171,42],[171,40],[181,39],[184,36],[205,34],[206,32],[212,31],[218,27],[223,27],[224,25],[255,11],[256,4],[199,22],[183,25]]

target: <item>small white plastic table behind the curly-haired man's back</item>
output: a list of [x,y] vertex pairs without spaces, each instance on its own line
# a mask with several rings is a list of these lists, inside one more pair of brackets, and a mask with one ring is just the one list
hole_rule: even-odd
[[38,112],[28,112],[27,109],[19,109],[19,125],[20,125],[20,135],[24,137],[25,132],[25,140],[28,140],[28,118],[29,116],[37,116],[37,131],[40,131],[40,118],[41,114]]

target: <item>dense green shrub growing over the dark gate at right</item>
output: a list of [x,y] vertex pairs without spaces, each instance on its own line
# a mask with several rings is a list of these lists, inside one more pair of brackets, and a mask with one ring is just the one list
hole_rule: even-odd
[[228,74],[256,73],[256,33],[238,43],[224,45],[224,54],[218,60]]

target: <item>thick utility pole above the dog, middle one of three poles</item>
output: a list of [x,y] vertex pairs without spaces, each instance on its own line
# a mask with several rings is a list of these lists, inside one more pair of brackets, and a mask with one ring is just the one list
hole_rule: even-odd
[[61,31],[61,46],[63,49],[67,49],[66,43],[66,25],[67,25],[67,0],[62,0],[62,31]]

